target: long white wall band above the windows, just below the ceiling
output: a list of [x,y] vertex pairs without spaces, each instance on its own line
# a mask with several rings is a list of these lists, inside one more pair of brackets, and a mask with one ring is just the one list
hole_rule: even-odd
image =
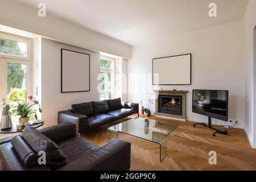
[[39,9],[10,0],[0,0],[0,6],[0,24],[78,47],[130,58],[129,45],[50,14],[48,11],[46,17],[39,17]]

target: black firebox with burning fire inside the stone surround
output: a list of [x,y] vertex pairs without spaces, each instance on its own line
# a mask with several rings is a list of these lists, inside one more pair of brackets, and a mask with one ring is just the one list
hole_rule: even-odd
[[158,112],[182,115],[182,96],[159,95]]

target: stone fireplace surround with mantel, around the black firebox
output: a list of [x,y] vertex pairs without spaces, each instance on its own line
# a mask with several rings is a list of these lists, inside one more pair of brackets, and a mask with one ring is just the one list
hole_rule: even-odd
[[[172,119],[177,119],[180,121],[186,121],[187,114],[186,114],[186,97],[188,91],[181,91],[181,90],[154,90],[155,92],[155,116],[158,117],[167,117]],[[158,105],[158,96],[164,95],[164,96],[182,96],[182,115],[176,115],[176,114],[167,114],[167,113],[159,113],[159,105]]]

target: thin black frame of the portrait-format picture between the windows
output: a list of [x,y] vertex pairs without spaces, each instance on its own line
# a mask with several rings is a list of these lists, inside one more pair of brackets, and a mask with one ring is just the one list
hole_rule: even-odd
[[[81,53],[89,56],[89,90],[63,91],[63,51],[71,51],[71,52]],[[72,93],[72,92],[90,92],[90,55],[88,53],[72,51],[69,49],[61,48],[61,93]]]

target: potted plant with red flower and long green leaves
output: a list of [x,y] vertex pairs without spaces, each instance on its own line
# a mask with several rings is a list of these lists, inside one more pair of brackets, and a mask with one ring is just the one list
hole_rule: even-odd
[[15,117],[19,116],[19,123],[24,126],[25,123],[27,123],[30,120],[30,115],[35,114],[35,119],[38,119],[38,115],[36,114],[36,109],[31,109],[32,106],[38,106],[39,112],[42,113],[41,106],[39,105],[39,102],[34,100],[33,96],[28,96],[28,102],[23,104],[19,103],[18,105],[14,106],[9,110],[9,117],[11,115],[14,115]]

